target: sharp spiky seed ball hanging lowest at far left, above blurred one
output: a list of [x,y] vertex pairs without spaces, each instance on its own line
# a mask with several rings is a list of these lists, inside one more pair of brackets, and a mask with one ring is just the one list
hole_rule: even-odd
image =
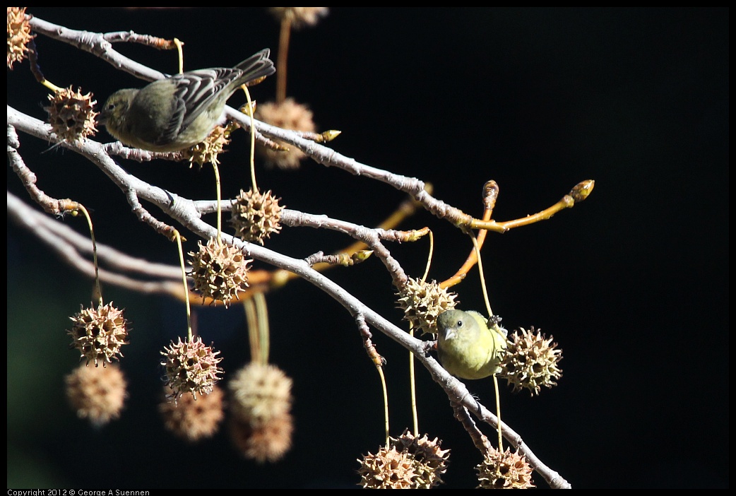
[[113,302],[97,308],[82,308],[69,319],[72,322],[71,330],[66,331],[71,336],[69,347],[77,348],[87,364],[92,361],[97,366],[100,360],[105,366],[112,358],[119,360],[117,355],[123,355],[120,348],[128,344],[130,328],[123,311],[115,308]]

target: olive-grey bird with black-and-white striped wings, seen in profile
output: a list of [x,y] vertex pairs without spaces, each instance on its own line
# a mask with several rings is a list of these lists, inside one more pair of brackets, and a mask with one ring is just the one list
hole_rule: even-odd
[[198,69],[118,90],[98,121],[116,140],[149,152],[194,146],[219,124],[227,99],[241,85],[275,73],[269,54],[263,49],[232,68]]

